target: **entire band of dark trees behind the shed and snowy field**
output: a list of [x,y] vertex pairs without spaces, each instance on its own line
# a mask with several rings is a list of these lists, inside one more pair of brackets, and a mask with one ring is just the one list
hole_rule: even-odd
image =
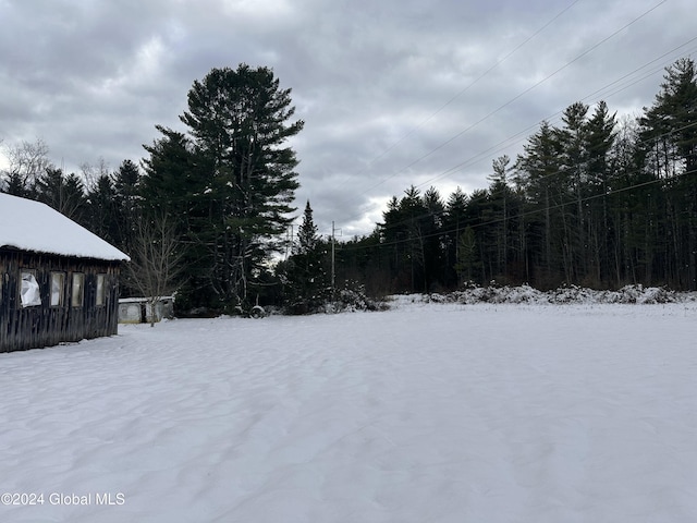
[[[331,297],[332,250],[309,202],[293,247],[284,243],[298,182],[283,144],[303,127],[293,113],[290,89],[269,69],[212,70],[188,94],[187,132],[157,126],[142,166],[66,174],[41,142],[22,144],[0,188],[45,202],[126,253],[144,230],[159,231],[152,242],[173,239],[179,247],[168,252],[181,270],[169,283],[180,306],[230,311],[261,296],[304,312]],[[697,71],[682,59],[638,118],[576,102],[559,125],[542,122],[516,158],[493,159],[488,187],[447,196],[406,187],[371,234],[335,246],[337,287],[375,295],[491,281],[695,290],[696,167]],[[139,227],[163,217],[167,227]],[[129,279],[122,290],[143,292]]]

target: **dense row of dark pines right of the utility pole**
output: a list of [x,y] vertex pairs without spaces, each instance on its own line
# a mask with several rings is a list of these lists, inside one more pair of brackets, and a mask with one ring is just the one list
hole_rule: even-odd
[[697,289],[697,76],[681,59],[653,105],[619,120],[576,102],[542,122],[487,188],[393,197],[375,231],[342,244],[342,279],[374,293],[466,282],[540,289]]

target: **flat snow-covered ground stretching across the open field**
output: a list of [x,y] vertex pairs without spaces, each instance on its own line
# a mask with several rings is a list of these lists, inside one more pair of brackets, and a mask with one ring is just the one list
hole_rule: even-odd
[[0,521],[697,521],[697,303],[395,305],[0,354]]

